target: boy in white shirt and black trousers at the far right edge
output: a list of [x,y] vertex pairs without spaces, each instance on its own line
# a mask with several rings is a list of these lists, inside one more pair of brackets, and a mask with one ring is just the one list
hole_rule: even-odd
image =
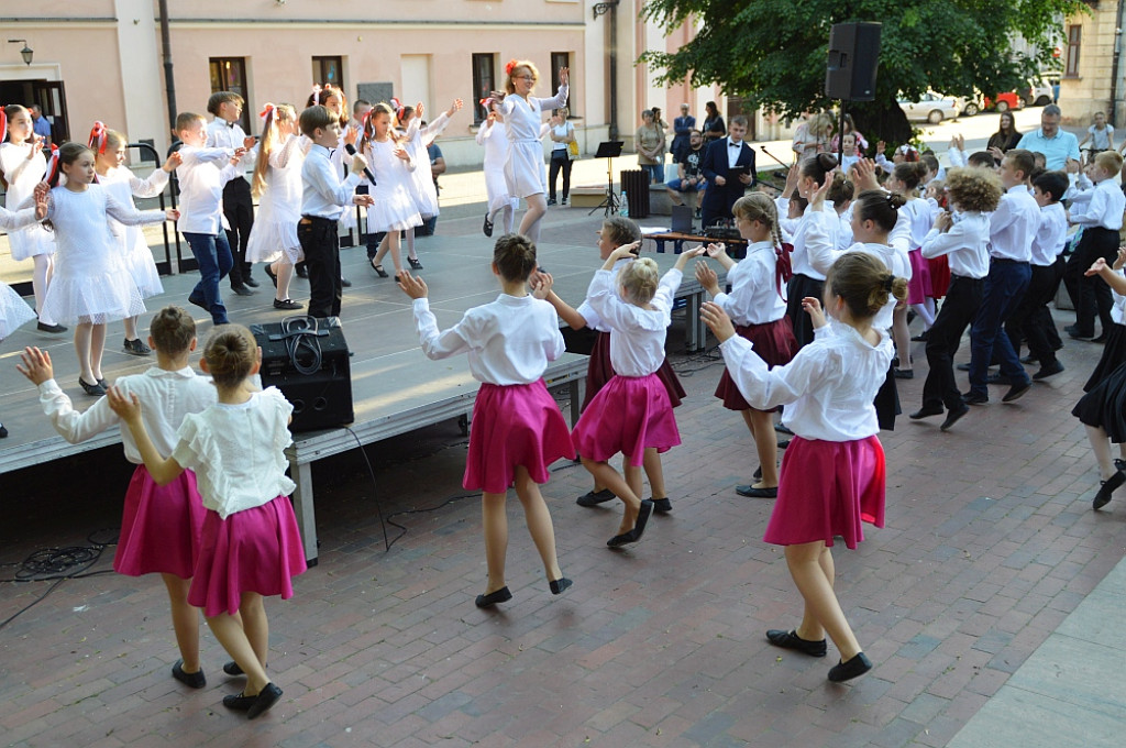
[[[1089,201],[1076,199],[1072,203],[1070,221],[1083,226],[1083,235],[1079,246],[1067,260],[1067,292],[1075,304],[1075,324],[1066,328],[1067,335],[1080,340],[1094,338],[1094,317],[1098,313],[1102,332],[1097,342],[1101,342],[1110,330],[1114,321],[1110,319],[1110,286],[1099,275],[1084,275],[1094,260],[1102,257],[1107,264],[1114,262],[1118,255],[1118,230],[1123,226],[1123,211],[1126,210],[1126,196],[1118,185],[1118,172],[1121,171],[1123,157],[1115,151],[1103,151],[1094,157],[1094,162],[1088,167],[1094,189],[1088,190]],[[1083,197],[1087,195],[1084,194]]]

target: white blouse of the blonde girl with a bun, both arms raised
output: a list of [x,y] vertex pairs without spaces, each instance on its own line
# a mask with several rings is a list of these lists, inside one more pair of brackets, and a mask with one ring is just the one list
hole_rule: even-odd
[[672,322],[672,294],[682,277],[676,268],[665,273],[650,301],[653,309],[642,309],[618,297],[617,273],[595,273],[587,301],[611,330],[610,365],[620,376],[649,376],[661,367],[664,337]]

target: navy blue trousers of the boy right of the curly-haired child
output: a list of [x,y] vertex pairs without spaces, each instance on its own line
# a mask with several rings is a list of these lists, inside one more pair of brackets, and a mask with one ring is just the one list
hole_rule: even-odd
[[994,346],[1001,362],[1001,374],[1008,376],[1013,384],[1029,381],[1002,326],[1024,299],[1031,277],[1033,269],[1028,262],[1000,259],[990,262],[982,305],[969,328],[971,392],[989,394],[985,377],[989,375]]

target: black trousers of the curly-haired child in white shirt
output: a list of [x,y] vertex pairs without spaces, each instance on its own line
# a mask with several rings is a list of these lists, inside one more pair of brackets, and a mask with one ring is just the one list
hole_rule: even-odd
[[965,402],[954,379],[954,354],[958,351],[962,336],[974,321],[985,290],[984,278],[950,276],[950,287],[938,310],[935,323],[927,333],[927,363],[930,373],[922,385],[922,407],[962,410]]

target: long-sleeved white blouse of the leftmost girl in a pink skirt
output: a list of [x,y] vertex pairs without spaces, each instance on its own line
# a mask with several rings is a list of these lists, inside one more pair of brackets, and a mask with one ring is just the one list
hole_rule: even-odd
[[[162,455],[172,454],[176,433],[188,413],[198,413],[215,404],[215,385],[209,377],[198,376],[190,366],[175,372],[153,366],[143,374],[123,376],[115,384],[125,397],[135,394],[141,401],[141,419],[153,446]],[[78,412],[62,388],[54,380],[47,380],[39,385],[39,406],[59,436],[71,444],[119,426],[125,458],[134,465],[144,462],[133,434],[109,409],[108,399],[99,398],[84,412]]]

